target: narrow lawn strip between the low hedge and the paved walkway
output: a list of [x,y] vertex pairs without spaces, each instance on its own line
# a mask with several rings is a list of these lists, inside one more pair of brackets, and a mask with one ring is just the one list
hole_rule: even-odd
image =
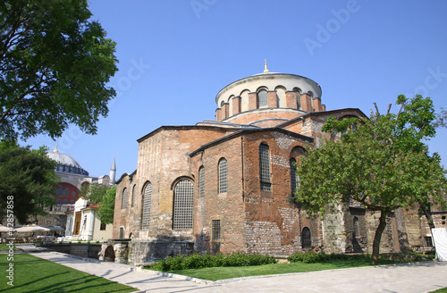
[[[381,259],[379,264],[399,264],[400,261]],[[370,256],[350,258],[347,260],[334,260],[326,263],[305,264],[264,264],[256,266],[240,267],[213,267],[203,269],[191,269],[182,271],[170,271],[172,273],[190,276],[202,280],[224,280],[240,277],[259,276],[267,274],[283,274],[291,272],[315,272],[333,269],[343,269],[372,265]]]

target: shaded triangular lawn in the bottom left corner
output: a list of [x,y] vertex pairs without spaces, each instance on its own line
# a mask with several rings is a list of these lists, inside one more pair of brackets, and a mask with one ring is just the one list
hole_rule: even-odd
[[7,284],[6,269],[10,261],[0,255],[1,292],[133,292],[137,289],[80,272],[33,255],[13,255],[14,286]]

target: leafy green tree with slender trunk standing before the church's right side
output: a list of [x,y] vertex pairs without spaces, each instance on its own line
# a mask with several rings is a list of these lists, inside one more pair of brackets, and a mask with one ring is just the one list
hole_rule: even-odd
[[429,97],[399,96],[397,114],[371,112],[370,119],[328,119],[323,130],[346,131],[308,150],[297,170],[296,202],[313,216],[355,201],[380,213],[372,262],[377,264],[386,216],[397,208],[445,205],[445,173],[437,154],[428,155],[424,139],[434,137],[434,109]]

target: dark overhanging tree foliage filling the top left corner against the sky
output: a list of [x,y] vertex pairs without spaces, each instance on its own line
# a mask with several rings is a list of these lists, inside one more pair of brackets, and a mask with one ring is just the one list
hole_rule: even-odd
[[0,138],[89,134],[115,96],[115,43],[90,21],[87,0],[0,4]]

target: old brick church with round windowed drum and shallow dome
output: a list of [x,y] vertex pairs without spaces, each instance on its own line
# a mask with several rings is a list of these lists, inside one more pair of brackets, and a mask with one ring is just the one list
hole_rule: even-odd
[[[370,253],[374,213],[345,205],[324,221],[310,220],[290,201],[305,149],[336,138],[322,133],[325,121],[365,116],[356,108],[326,110],[321,95],[315,81],[265,66],[218,92],[215,121],[161,126],[139,138],[137,170],[116,181],[114,239],[130,239],[129,262],[192,252],[291,255],[316,247]],[[420,216],[409,214],[410,222],[406,216],[390,217],[383,252],[409,241],[425,245],[429,230]]]

